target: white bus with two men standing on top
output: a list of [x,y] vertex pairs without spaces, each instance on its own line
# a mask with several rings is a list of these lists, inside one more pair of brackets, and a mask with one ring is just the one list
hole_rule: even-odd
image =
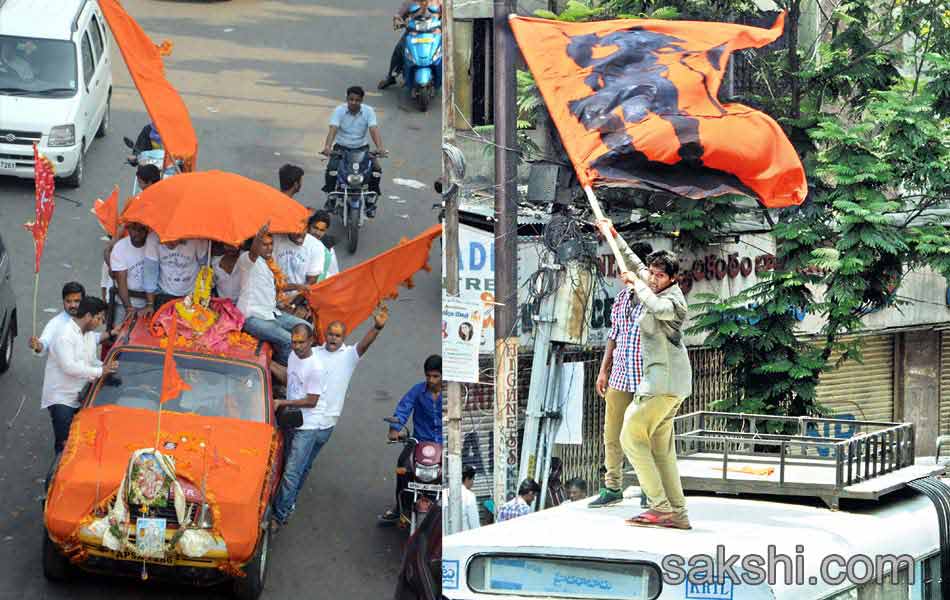
[[[948,557],[950,487],[942,478],[927,480],[932,493],[907,489],[840,511],[819,502],[690,496],[688,531],[625,525],[642,511],[639,499],[596,510],[587,501],[566,504],[443,538],[442,594],[449,600],[950,600],[941,590],[950,584],[941,565]],[[743,570],[741,561],[755,556],[769,564],[770,546],[788,563],[773,560],[778,581],[756,584],[756,572]],[[733,563],[739,581],[677,580],[690,560],[705,565],[703,556],[714,564],[739,557]],[[680,559],[679,570],[666,562]],[[861,581],[870,565],[878,574],[895,573],[894,581]]]

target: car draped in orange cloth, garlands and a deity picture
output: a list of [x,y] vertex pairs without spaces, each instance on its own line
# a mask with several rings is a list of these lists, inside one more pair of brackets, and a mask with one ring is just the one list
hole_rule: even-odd
[[[84,390],[50,482],[47,578],[78,567],[196,585],[231,580],[238,598],[260,595],[283,468],[280,426],[294,416],[275,417],[269,346],[241,325],[233,304],[217,298],[169,303],[124,325],[107,358],[118,371]],[[180,393],[162,402],[168,371]]]

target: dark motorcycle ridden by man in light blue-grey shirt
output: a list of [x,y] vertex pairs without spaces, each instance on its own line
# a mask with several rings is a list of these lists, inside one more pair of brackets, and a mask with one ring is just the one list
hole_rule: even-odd
[[328,194],[328,209],[339,216],[343,229],[346,231],[346,249],[350,254],[356,252],[359,244],[360,228],[365,222],[365,208],[368,203],[377,200],[376,192],[370,191],[370,177],[380,177],[381,173],[373,172],[372,158],[379,156],[368,150],[346,149],[334,151],[333,158],[339,158],[339,167],[336,172],[330,171],[331,177],[336,177],[336,189]]

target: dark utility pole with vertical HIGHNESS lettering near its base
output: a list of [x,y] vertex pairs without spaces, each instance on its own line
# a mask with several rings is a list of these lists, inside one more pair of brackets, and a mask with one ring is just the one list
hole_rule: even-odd
[[518,482],[518,188],[515,41],[508,16],[516,0],[494,0],[495,122],[495,515]]

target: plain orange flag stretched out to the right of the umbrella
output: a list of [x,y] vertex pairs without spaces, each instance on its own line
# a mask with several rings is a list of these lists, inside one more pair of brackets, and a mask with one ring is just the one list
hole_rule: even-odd
[[351,331],[365,321],[400,285],[411,285],[414,273],[429,270],[429,249],[441,234],[442,226],[434,225],[412,240],[310,286],[307,301],[319,327],[342,321]]

